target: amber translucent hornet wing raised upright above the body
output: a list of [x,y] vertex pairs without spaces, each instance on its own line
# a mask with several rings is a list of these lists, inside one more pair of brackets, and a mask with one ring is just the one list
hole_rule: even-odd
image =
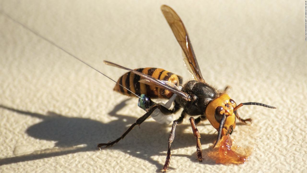
[[162,5],[161,11],[185,54],[185,58],[187,60],[186,62],[188,63],[187,65],[191,67],[191,73],[193,74],[195,80],[205,82],[201,75],[188,32],[186,31],[183,22],[171,7]]

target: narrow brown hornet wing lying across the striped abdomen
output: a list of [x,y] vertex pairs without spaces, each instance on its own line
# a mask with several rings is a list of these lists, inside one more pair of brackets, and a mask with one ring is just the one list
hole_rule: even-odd
[[153,86],[157,86],[157,87],[163,88],[165,90],[171,91],[172,93],[177,94],[178,96],[182,97],[186,101],[190,101],[191,100],[191,96],[190,95],[188,95],[185,92],[180,91],[180,89],[177,88],[177,86],[175,87],[173,85],[170,85],[168,82],[161,81],[159,79],[151,77],[150,75],[143,74],[143,73],[138,72],[136,70],[132,70],[132,69],[120,66],[120,65],[115,64],[113,62],[109,62],[109,61],[103,61],[103,62],[105,64],[107,64],[107,65],[115,66],[115,67],[118,67],[118,68],[121,68],[121,69],[125,69],[125,70],[128,70],[128,71],[131,71],[134,74],[137,74],[137,75],[141,76],[144,79],[141,80],[140,82],[146,83],[147,85],[153,85]]

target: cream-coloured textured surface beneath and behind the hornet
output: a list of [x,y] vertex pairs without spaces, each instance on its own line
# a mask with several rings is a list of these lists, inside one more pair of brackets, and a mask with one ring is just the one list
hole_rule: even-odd
[[[207,157],[216,139],[198,126],[204,162],[186,119],[177,127],[172,172],[306,172],[307,42],[305,1],[40,1],[1,0],[7,14],[117,80],[130,68],[160,67],[191,78],[160,12],[173,7],[185,22],[208,83],[252,118],[232,137],[255,148],[239,166]],[[114,93],[114,82],[0,13],[0,170],[2,172],[160,172],[170,126],[148,119],[113,147],[144,111]],[[176,115],[178,117],[178,114]]]

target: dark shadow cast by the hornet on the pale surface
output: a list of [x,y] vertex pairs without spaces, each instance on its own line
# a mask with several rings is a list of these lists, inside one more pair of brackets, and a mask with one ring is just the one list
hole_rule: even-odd
[[[67,117],[55,112],[47,112],[46,115],[43,115],[0,105],[0,108],[2,109],[42,120],[40,123],[27,128],[25,132],[29,136],[41,140],[57,141],[54,148],[51,149],[38,150],[26,154],[2,158],[0,159],[0,165],[67,155],[77,152],[99,152],[97,143],[116,139],[127,129],[127,126],[135,122],[135,117],[131,117],[130,115],[120,115],[117,113],[125,107],[128,100],[129,99],[123,100],[121,103],[116,105],[111,112],[109,112],[109,115],[118,118],[109,123],[102,123],[92,119]],[[157,172],[160,172],[163,165],[156,160],[153,160],[151,157],[156,155],[166,155],[171,127],[153,121],[145,121],[140,127],[140,129],[135,127],[124,140],[112,147],[103,147],[103,150],[119,150],[131,156],[144,159],[155,165],[157,167]],[[185,132],[185,129],[187,128],[190,128],[189,124],[182,124],[177,127],[176,138],[174,140],[174,146],[172,147],[173,149],[196,145],[196,140],[192,134],[192,130],[191,133]],[[201,137],[204,139],[201,142],[203,144],[208,144],[214,141],[216,134],[201,134]],[[79,147],[81,145],[82,147]],[[207,150],[203,151],[206,152]],[[190,158],[193,162],[198,162],[195,160],[195,153],[191,155],[173,154],[173,156],[184,156]],[[214,161],[210,159],[205,159],[203,162],[205,164],[215,164]]]

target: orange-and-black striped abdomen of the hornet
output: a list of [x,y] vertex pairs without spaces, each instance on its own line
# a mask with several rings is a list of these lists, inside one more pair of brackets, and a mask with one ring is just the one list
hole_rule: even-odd
[[[173,74],[169,71],[163,70],[161,68],[147,67],[134,70],[144,74],[148,74],[151,77],[159,80],[172,82],[176,86],[179,86],[182,83],[182,78],[180,76]],[[151,98],[170,98],[173,95],[173,93],[168,90],[138,82],[141,79],[142,78],[139,75],[127,72],[119,78],[117,84],[114,87],[114,91],[117,91],[123,95],[134,96],[134,94],[130,92],[132,91],[138,96],[140,96],[141,94],[145,94]],[[119,84],[128,88],[130,91],[126,90]]]

